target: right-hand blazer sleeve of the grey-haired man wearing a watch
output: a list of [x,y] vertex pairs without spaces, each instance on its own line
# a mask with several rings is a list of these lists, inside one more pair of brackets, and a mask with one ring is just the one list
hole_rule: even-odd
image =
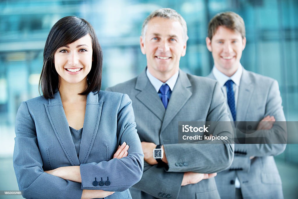
[[[213,90],[206,121],[230,121],[224,96],[218,83]],[[215,135],[227,136],[232,143],[230,122],[215,127]],[[215,136],[214,135],[214,136]],[[228,168],[234,157],[234,144],[164,144],[167,172],[214,173]]]

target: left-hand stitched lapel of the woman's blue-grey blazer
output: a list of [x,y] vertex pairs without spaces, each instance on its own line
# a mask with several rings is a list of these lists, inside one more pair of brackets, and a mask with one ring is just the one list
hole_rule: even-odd
[[72,166],[80,165],[59,91],[55,93],[53,99],[49,99],[49,104],[44,105],[46,107],[46,113],[49,117],[49,121],[51,122],[52,128],[54,129],[66,157]]

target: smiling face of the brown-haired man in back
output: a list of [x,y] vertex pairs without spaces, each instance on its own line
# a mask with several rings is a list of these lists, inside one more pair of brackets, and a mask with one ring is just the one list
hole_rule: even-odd
[[215,67],[225,75],[232,76],[240,66],[246,38],[242,38],[238,31],[220,26],[212,40],[206,38],[206,44],[208,50],[212,52]]

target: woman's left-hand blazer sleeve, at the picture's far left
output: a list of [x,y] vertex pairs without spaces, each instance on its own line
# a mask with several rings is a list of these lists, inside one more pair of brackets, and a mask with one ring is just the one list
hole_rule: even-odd
[[81,198],[81,183],[45,173],[38,149],[35,123],[22,102],[15,122],[13,167],[24,198]]

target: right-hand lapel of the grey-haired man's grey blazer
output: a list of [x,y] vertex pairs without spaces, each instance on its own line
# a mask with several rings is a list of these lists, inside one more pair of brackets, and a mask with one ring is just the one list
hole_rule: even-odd
[[[162,132],[167,127],[167,125],[170,124],[173,118],[177,115],[180,109],[185,105],[190,96],[193,94],[190,90],[187,89],[189,87],[191,87],[191,83],[187,78],[186,73],[182,70],[179,70],[179,76],[171,94],[171,98],[164,115],[160,132]],[[161,100],[159,99],[159,101]]]

